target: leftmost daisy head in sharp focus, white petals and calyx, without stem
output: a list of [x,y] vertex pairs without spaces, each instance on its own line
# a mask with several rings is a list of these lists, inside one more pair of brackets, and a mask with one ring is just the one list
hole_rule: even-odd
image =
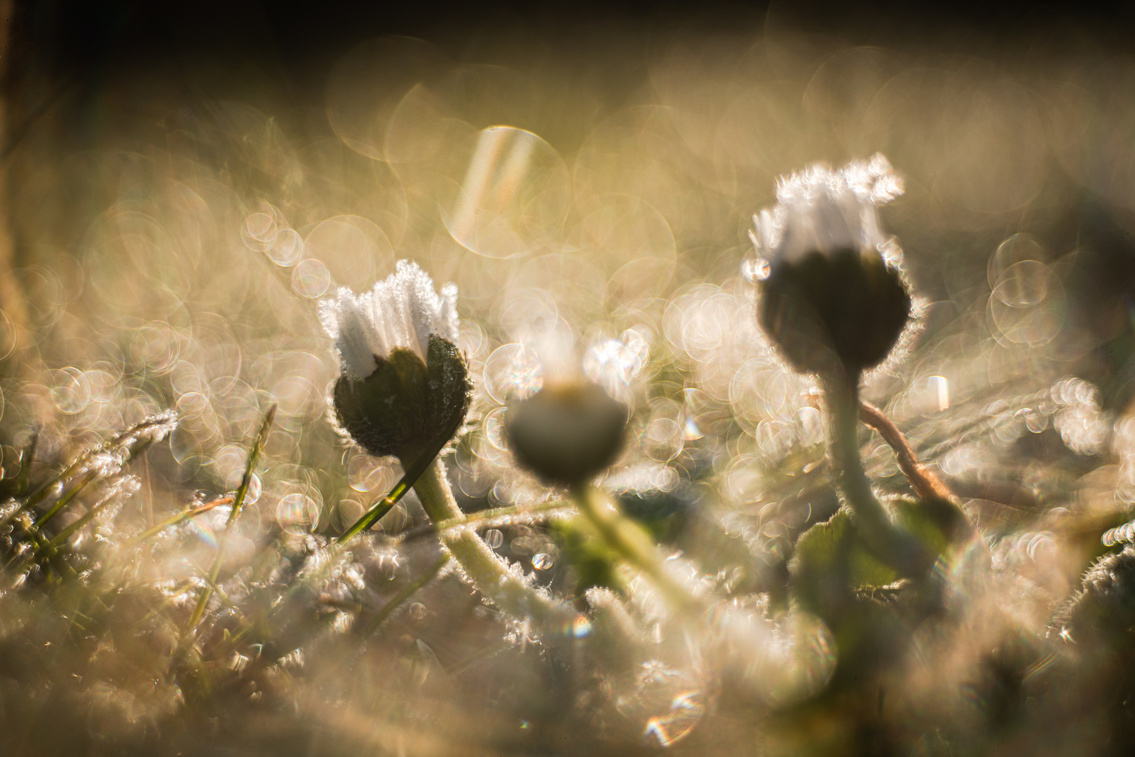
[[376,456],[404,466],[437,454],[469,410],[471,386],[457,348],[457,287],[438,294],[417,263],[363,294],[340,288],[320,303],[342,373],[330,403],[337,429]]

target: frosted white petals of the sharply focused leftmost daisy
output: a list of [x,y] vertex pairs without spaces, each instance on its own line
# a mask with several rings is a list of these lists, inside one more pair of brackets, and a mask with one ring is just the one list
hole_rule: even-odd
[[335,339],[343,376],[352,381],[367,378],[397,347],[413,350],[426,360],[429,335],[457,342],[457,287],[446,284],[442,293],[418,263],[400,260],[393,274],[363,294],[346,287],[336,297],[319,303],[319,320]]

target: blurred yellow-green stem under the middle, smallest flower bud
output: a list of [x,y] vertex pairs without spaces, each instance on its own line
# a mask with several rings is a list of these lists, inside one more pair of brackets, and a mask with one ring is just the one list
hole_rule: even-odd
[[580,511],[598,531],[604,542],[647,579],[676,609],[699,613],[701,602],[689,587],[670,574],[658,554],[658,548],[633,522],[623,518],[606,491],[582,485],[573,491]]

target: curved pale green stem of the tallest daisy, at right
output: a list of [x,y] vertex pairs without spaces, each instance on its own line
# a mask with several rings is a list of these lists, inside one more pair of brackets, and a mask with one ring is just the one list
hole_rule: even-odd
[[915,577],[933,564],[923,545],[891,522],[875,498],[859,457],[859,373],[831,372],[819,377],[827,404],[827,454],[835,480],[855,516],[868,549],[902,575]]

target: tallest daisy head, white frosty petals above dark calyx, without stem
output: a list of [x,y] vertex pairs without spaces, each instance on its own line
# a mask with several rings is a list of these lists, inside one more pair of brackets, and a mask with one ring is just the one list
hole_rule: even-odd
[[796,370],[856,376],[902,334],[910,295],[883,259],[875,215],[901,191],[882,155],[835,173],[813,166],[783,178],[773,211],[754,217],[768,259],[757,318]]

